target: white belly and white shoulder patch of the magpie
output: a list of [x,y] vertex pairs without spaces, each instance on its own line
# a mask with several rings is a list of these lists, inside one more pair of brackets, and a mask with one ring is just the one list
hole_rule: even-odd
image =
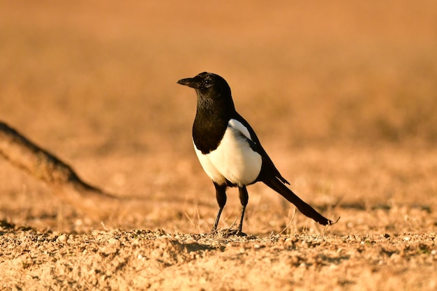
[[262,158],[251,149],[247,139],[251,140],[251,135],[246,126],[230,119],[217,149],[205,155],[194,146],[203,170],[217,184],[224,184],[228,179],[232,184],[244,186],[258,177]]

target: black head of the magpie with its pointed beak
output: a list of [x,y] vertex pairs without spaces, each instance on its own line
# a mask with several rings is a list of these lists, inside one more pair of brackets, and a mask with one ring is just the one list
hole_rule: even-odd
[[213,101],[232,109],[234,107],[228,82],[219,75],[203,72],[195,77],[179,80],[177,84],[194,88],[201,103]]

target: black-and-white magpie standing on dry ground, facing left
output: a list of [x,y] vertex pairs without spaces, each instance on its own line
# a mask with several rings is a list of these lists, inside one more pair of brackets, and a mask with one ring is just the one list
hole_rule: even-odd
[[217,229],[226,204],[226,189],[238,187],[242,216],[237,233],[242,234],[244,212],[249,202],[246,186],[258,181],[281,194],[314,221],[322,225],[334,223],[286,186],[290,183],[276,169],[253,128],[235,110],[230,87],[223,77],[204,72],[177,83],[195,89],[197,94],[193,144],[203,170],[212,179],[219,207],[212,232]]

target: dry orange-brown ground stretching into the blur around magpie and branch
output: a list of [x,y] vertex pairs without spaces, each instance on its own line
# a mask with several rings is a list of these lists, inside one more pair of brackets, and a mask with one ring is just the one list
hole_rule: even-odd
[[[436,290],[435,1],[0,0],[0,120],[124,200],[83,211],[0,156],[1,290]],[[195,93],[237,110],[320,227],[217,205]]]

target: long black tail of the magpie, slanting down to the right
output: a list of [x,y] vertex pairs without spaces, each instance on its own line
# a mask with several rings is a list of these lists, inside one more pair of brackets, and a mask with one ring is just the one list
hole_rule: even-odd
[[322,225],[334,224],[333,221],[330,221],[329,219],[323,217],[323,215],[319,214],[316,209],[313,209],[313,207],[309,206],[309,204],[306,204],[302,199],[297,197],[297,195],[293,193],[293,191],[287,188],[287,186],[279,181],[279,179],[277,179],[276,177],[273,179],[266,179],[266,181],[262,182],[272,188],[277,193],[283,195],[286,200],[292,202],[292,204],[295,204],[297,209],[299,209],[299,211],[301,211],[302,214],[304,214],[305,216],[313,218],[314,221],[317,221]]

